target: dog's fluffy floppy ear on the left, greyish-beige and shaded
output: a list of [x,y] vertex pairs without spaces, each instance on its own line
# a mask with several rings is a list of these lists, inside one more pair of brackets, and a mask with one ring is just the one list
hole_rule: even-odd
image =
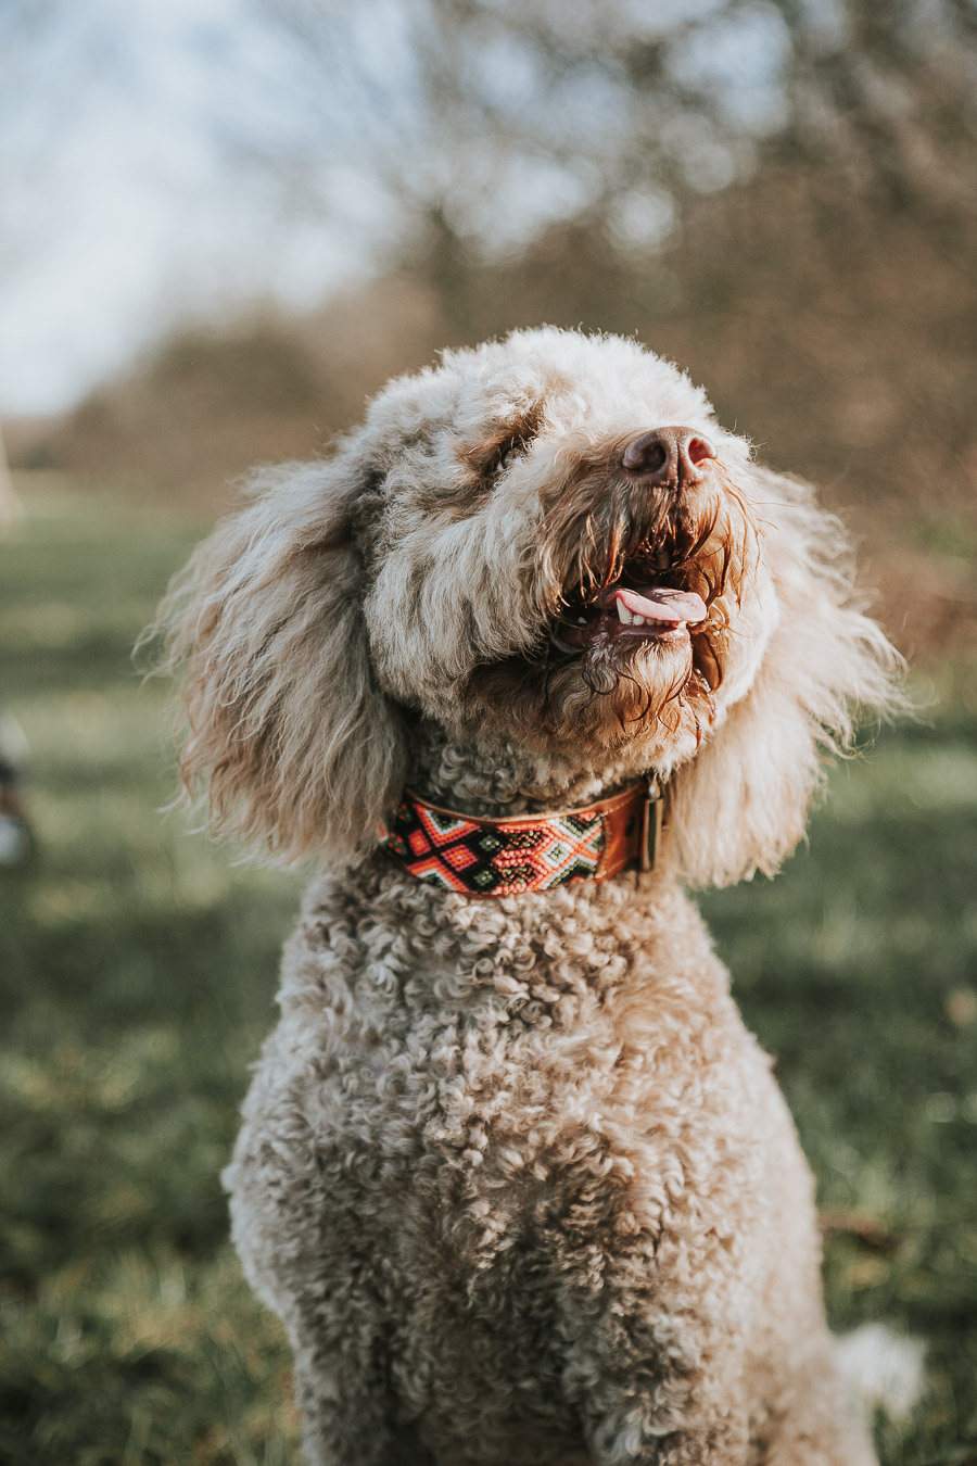
[[163,670],[185,676],[185,789],[205,793],[215,834],[286,863],[374,841],[401,780],[347,529],[360,488],[352,452],[258,474],[255,501],[198,547],[155,623]]

